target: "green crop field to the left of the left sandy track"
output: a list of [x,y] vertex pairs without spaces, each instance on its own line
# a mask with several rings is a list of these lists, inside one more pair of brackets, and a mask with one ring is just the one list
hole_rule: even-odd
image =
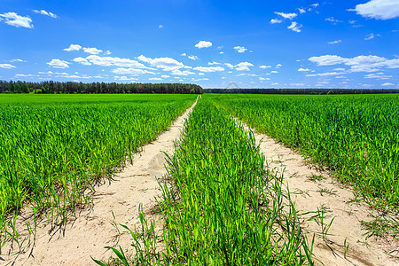
[[[27,205],[57,214],[87,203],[100,177],[192,106],[193,95],[0,95],[0,242]],[[8,228],[8,229],[7,229]]]

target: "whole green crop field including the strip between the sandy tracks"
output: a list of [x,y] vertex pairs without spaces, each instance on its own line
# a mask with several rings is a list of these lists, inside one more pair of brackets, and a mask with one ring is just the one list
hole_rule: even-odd
[[[0,95],[0,244],[18,237],[13,224],[22,207],[65,222],[90,203],[95,184],[196,98]],[[304,236],[284,177],[268,168],[254,134],[235,117],[330,169],[373,206],[398,209],[399,96],[206,94],[168,157],[161,235],[142,213],[141,230],[125,227],[135,253],[108,247],[117,264],[314,263],[315,237]],[[324,236],[332,222],[320,223]]]

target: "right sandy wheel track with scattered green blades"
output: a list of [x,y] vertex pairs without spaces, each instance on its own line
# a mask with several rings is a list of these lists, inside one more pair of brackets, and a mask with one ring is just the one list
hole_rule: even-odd
[[[255,132],[254,129],[253,131]],[[316,237],[314,246],[314,255],[318,260],[315,261],[316,265],[399,265],[399,259],[385,254],[399,255],[397,239],[365,238],[364,233],[367,231],[362,228],[359,221],[371,221],[372,208],[364,202],[350,203],[354,199],[354,194],[349,186],[340,184],[327,171],[320,172],[312,168],[300,153],[278,144],[273,138],[259,133],[254,133],[254,137],[258,144],[261,143],[261,152],[265,155],[269,168],[273,168],[278,174],[284,171],[284,183],[291,192],[297,211],[301,213],[316,211],[317,207],[324,206],[328,210],[325,223],[330,223],[332,217],[335,217],[326,236],[327,242]],[[322,175],[325,180],[311,182],[309,176],[312,175]],[[320,192],[321,189],[332,194]],[[376,214],[374,211],[374,215]],[[309,218],[312,215],[305,215],[302,218]],[[398,221],[399,217],[396,216],[395,219]],[[309,232],[307,234],[309,239],[314,232],[317,234],[321,232],[321,227],[314,221],[306,222],[303,229]],[[349,244],[347,259],[344,258],[345,239],[347,245]]]

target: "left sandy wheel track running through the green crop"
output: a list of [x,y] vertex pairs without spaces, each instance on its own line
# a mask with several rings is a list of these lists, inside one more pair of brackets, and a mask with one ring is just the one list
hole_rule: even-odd
[[[35,246],[33,243],[25,246],[24,253],[18,256],[2,255],[6,261],[0,262],[15,262],[15,265],[97,265],[90,256],[99,260],[112,255],[104,246],[120,245],[126,251],[131,244],[131,237],[128,233],[117,237],[119,234],[113,223],[125,224],[134,230],[135,225],[140,224],[140,204],[147,220],[155,218],[150,213],[156,206],[155,198],[161,195],[157,180],[166,174],[163,152],[170,156],[174,153],[174,141],[180,137],[184,121],[196,103],[177,118],[170,129],[161,133],[157,140],[145,145],[141,153],[135,154],[132,165],[116,174],[112,182],[96,189],[92,208],[84,209],[74,221],[66,223],[57,231],[51,232],[51,225],[39,224]],[[125,254],[129,252],[131,249]]]

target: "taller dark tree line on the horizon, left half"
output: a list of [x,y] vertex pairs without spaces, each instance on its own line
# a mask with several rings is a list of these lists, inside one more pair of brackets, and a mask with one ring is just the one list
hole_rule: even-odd
[[0,93],[178,93],[201,94],[196,84],[182,83],[106,83],[106,82],[5,82],[0,81]]

